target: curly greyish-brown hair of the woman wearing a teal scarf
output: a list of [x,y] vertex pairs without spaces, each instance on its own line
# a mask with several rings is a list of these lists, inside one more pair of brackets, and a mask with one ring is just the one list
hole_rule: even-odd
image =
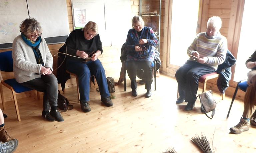
[[38,31],[42,33],[42,27],[40,23],[34,18],[27,18],[20,24],[20,32],[24,35]]

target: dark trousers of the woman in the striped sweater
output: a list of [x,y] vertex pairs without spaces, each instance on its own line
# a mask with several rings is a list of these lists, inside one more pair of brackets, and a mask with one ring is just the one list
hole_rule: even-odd
[[180,97],[185,98],[186,102],[195,103],[199,78],[214,71],[210,66],[188,60],[175,74]]

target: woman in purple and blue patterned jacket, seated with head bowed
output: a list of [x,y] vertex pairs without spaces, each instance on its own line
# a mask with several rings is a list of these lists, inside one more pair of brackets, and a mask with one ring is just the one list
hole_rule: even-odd
[[134,16],[132,19],[132,29],[127,34],[127,60],[126,69],[131,80],[132,96],[136,97],[137,83],[136,72],[137,69],[143,69],[145,74],[145,89],[147,93],[146,98],[151,96],[152,83],[152,62],[154,61],[154,51],[152,46],[158,45],[154,31],[150,27],[144,27],[144,21],[140,16]]

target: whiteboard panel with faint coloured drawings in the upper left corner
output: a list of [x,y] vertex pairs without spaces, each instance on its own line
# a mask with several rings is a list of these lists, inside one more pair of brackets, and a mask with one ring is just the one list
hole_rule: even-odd
[[0,44],[13,42],[20,35],[19,25],[26,18],[26,0],[0,0]]

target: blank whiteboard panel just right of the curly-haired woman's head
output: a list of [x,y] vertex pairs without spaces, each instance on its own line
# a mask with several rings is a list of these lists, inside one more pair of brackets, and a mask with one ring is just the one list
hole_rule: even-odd
[[42,26],[44,38],[69,35],[66,0],[27,0],[29,16]]

